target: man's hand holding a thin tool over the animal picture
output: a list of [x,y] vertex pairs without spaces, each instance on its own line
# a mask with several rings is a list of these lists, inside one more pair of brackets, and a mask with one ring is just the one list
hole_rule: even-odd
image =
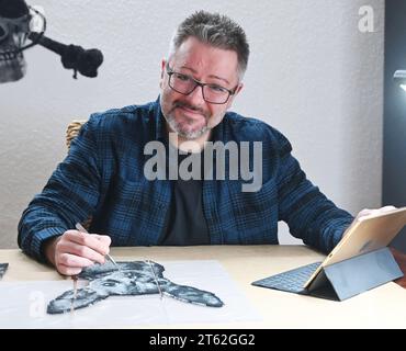
[[95,262],[104,263],[110,251],[111,239],[106,235],[67,230],[45,244],[48,261],[64,275],[76,275],[84,267]]

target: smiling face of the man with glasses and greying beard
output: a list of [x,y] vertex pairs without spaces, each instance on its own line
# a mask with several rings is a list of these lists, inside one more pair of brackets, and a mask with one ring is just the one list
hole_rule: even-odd
[[[215,48],[194,37],[184,41],[169,60],[172,71],[190,76],[203,83],[216,84],[236,93],[243,88],[238,81],[237,53]],[[169,131],[184,139],[196,139],[208,135],[210,129],[222,122],[236,94],[224,104],[208,103],[203,99],[201,87],[189,95],[181,94],[169,87],[167,61],[162,60],[160,104]]]

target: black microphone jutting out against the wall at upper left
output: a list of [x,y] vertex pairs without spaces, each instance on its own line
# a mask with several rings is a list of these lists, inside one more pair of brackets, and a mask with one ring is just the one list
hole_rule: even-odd
[[103,54],[97,48],[84,49],[78,45],[66,45],[53,41],[42,34],[31,32],[29,38],[41,46],[58,54],[66,69],[74,69],[74,78],[77,72],[84,77],[94,78],[98,76],[98,68],[103,63]]

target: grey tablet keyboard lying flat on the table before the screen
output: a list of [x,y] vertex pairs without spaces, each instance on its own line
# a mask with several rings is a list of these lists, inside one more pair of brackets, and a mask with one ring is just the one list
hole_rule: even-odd
[[261,279],[253,282],[252,285],[275,288],[296,294],[306,294],[303,285],[320,264],[322,262],[314,262],[302,265],[291,271]]

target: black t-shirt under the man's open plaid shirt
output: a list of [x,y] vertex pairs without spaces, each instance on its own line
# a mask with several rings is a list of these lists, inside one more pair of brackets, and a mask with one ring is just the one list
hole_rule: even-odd
[[[189,155],[179,155],[178,165]],[[178,180],[171,180],[171,203],[159,245],[210,244],[207,223],[203,213],[203,180],[201,179],[183,180],[179,177]]]

